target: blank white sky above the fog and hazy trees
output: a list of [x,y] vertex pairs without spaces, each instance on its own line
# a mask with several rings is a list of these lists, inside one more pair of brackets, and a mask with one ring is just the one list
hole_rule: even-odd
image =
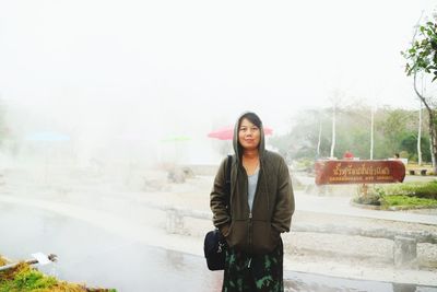
[[334,91],[417,106],[400,51],[436,2],[0,0],[0,96],[87,131],[276,132]]

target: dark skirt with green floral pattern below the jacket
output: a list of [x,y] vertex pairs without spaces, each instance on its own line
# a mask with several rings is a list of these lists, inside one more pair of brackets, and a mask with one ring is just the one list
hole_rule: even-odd
[[222,292],[282,292],[284,247],[282,241],[267,255],[226,250]]

